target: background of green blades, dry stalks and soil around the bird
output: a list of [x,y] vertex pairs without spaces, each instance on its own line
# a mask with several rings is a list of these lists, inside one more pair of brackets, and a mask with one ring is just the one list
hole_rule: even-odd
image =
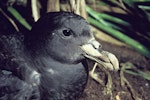
[[0,32],[26,33],[40,16],[54,11],[87,19],[97,40],[121,63],[112,76],[112,94],[99,92],[105,88],[90,80],[81,100],[150,100],[150,0],[1,0]]

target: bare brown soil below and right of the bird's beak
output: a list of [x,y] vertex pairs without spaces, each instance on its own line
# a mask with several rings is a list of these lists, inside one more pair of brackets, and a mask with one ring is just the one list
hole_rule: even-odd
[[[104,50],[112,52],[118,57],[120,64],[130,62],[138,69],[150,73],[150,59],[145,58],[131,48],[116,46],[102,41],[101,43]],[[103,72],[100,70],[97,71],[100,77],[106,82]],[[110,73],[113,81],[112,100],[150,100],[150,81],[140,76],[125,73],[125,78],[131,85],[133,94],[127,84],[123,87],[121,86],[120,71]],[[105,86],[89,78],[88,85],[79,100],[111,100],[110,94],[105,94],[104,90]]]

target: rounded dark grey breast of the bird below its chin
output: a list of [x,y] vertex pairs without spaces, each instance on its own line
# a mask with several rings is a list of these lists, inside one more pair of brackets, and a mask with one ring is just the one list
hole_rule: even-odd
[[74,100],[87,83],[87,70],[82,63],[54,64],[41,74],[41,95],[46,100]]

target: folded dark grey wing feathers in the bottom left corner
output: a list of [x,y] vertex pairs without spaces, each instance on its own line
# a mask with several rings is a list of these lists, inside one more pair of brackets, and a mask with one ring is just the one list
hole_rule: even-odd
[[10,71],[0,70],[0,100],[40,100],[37,86],[32,86],[14,76]]

